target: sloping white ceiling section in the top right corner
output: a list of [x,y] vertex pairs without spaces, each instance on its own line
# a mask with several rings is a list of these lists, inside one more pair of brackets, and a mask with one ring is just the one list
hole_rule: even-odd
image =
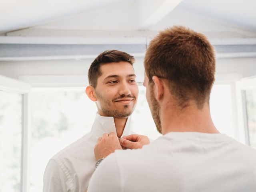
[[185,0],[179,7],[248,30],[256,30],[255,0]]

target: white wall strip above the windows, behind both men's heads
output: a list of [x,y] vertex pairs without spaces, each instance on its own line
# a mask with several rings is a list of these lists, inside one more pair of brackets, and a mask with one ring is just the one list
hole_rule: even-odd
[[[0,74],[18,79],[23,75],[87,75],[94,59],[0,62]],[[136,74],[144,74],[143,58],[136,58]],[[256,76],[256,58],[219,58],[216,74],[236,73]]]

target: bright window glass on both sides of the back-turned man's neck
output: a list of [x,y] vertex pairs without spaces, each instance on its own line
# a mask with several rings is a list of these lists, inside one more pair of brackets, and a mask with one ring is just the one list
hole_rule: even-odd
[[[132,115],[132,127],[135,132],[156,139],[161,134],[156,130],[148,102],[146,88],[139,86],[139,98],[136,109]],[[210,96],[210,112],[212,120],[220,133],[234,138],[233,111],[230,84],[216,84]]]

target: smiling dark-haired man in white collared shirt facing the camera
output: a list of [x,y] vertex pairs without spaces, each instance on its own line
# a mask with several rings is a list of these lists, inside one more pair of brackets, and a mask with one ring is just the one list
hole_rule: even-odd
[[92,130],[50,159],[44,172],[44,192],[86,191],[96,164],[97,138],[106,132],[115,132],[119,138],[131,134],[130,115],[138,97],[134,61],[125,52],[109,50],[92,62],[90,86],[86,87],[87,96],[98,109]]

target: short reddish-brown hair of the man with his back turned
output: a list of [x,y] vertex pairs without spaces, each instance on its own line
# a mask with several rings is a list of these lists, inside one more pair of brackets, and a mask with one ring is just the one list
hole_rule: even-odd
[[182,108],[195,100],[209,102],[214,83],[215,52],[206,36],[174,26],[161,31],[149,44],[144,59],[149,84],[153,76],[166,79]]

